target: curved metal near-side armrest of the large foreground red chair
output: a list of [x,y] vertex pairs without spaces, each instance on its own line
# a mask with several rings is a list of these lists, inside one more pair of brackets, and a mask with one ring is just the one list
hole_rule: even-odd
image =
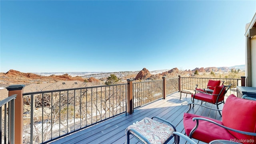
[[217,122],[214,122],[212,120],[209,120],[207,118],[199,118],[199,117],[194,117],[192,118],[193,121],[196,120],[196,126],[190,131],[190,134],[189,134],[189,137],[192,138],[192,134],[196,131],[196,129],[198,128],[198,124],[199,124],[199,120],[205,120],[205,121],[208,121],[208,122],[211,122],[213,124],[216,124],[217,126],[220,126],[222,128],[226,128],[227,130],[232,130],[234,132],[238,132],[240,134],[246,134],[246,135],[250,135],[250,136],[256,136],[256,133],[254,132],[244,132],[244,131],[241,131],[241,130],[236,130],[236,129],[233,129],[233,128],[229,128],[227,126],[223,126],[221,124],[218,124]]

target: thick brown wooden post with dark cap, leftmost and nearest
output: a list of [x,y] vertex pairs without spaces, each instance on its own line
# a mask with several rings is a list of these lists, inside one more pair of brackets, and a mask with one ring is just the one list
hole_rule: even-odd
[[25,85],[12,85],[6,89],[9,91],[9,96],[17,94],[14,103],[14,142],[15,144],[23,144],[23,88]]

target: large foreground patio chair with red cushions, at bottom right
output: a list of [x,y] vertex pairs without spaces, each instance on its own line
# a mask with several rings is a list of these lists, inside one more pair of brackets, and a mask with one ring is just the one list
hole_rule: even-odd
[[[192,104],[188,104],[190,108]],[[231,94],[223,110],[218,111],[222,111],[222,121],[184,113],[183,124],[186,135],[206,143],[213,140],[228,140],[243,144],[256,143],[256,101],[237,98]]]

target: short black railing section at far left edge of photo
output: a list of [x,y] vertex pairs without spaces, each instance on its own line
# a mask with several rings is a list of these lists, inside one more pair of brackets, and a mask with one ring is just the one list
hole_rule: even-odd
[[16,96],[17,94],[14,94],[0,101],[0,144],[14,144],[14,100]]

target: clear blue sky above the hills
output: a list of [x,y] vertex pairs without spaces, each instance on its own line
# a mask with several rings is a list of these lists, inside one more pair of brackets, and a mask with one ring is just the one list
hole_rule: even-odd
[[256,1],[0,1],[0,72],[245,64]]

